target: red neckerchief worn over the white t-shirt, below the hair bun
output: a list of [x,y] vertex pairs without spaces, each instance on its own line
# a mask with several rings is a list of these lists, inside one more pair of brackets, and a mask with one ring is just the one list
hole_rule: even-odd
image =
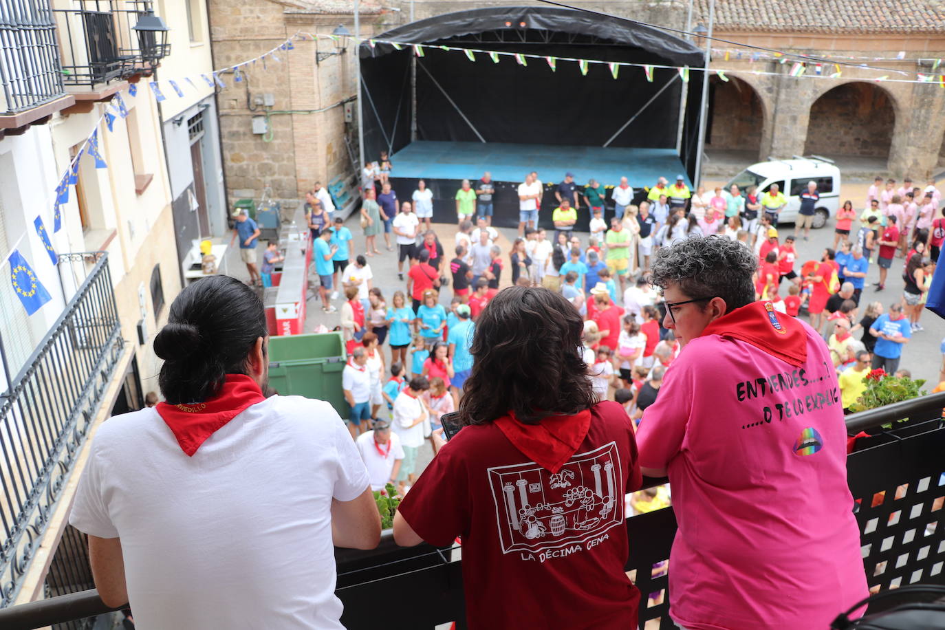
[[155,410],[177,439],[180,449],[193,456],[207,438],[247,407],[266,400],[259,385],[245,374],[227,374],[220,393],[193,404],[159,402]]

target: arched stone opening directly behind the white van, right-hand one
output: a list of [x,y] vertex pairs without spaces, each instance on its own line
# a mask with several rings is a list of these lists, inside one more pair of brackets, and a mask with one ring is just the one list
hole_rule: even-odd
[[885,159],[895,126],[889,93],[873,83],[844,83],[811,106],[804,154]]

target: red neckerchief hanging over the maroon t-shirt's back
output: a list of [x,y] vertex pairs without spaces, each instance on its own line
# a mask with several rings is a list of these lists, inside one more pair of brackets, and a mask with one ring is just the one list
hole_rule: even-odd
[[584,441],[591,427],[591,410],[574,416],[547,416],[538,424],[523,424],[515,413],[496,418],[495,426],[533,462],[552,472],[564,466]]

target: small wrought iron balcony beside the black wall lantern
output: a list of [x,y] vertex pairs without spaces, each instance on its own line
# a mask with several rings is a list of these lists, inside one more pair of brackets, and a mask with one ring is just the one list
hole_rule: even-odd
[[73,0],[56,9],[67,85],[94,86],[152,72],[170,54],[150,0]]

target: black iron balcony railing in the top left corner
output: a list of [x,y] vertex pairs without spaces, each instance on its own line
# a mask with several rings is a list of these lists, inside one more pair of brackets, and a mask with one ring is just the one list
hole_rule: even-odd
[[48,0],[0,0],[0,115],[65,94],[56,22]]

